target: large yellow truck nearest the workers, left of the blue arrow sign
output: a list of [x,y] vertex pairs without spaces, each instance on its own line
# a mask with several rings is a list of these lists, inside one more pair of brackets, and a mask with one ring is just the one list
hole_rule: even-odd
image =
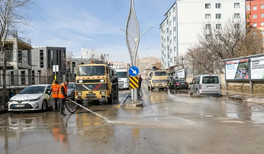
[[91,61],[77,67],[75,98],[86,101],[108,101],[118,97],[117,72],[103,61]]

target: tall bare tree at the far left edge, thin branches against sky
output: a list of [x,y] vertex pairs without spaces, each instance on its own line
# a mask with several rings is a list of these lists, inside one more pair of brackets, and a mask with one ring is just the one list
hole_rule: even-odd
[[[3,97],[2,106],[5,105],[6,96],[6,66],[8,62],[7,42],[8,39],[18,38],[25,39],[28,33],[25,26],[33,26],[31,24],[31,17],[26,11],[33,3],[33,0],[0,0],[0,48],[3,57]],[[25,11],[25,12],[24,12]]]

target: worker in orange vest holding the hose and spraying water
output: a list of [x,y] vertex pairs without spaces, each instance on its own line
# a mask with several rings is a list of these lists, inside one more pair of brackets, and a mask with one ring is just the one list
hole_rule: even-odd
[[63,113],[63,106],[66,100],[69,100],[67,97],[67,87],[69,84],[69,80],[66,80],[61,86],[59,91],[59,100],[60,100],[60,116],[66,116]]

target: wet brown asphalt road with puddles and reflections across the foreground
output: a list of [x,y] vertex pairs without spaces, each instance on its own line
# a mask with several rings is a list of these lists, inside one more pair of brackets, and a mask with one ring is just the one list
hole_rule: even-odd
[[261,105],[142,87],[143,109],[117,108],[130,90],[115,105],[88,107],[110,123],[84,109],[1,114],[0,153],[263,153]]

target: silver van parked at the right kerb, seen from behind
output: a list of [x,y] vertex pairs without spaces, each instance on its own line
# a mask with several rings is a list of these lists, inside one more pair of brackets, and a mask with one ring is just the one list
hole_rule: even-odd
[[221,96],[221,80],[217,74],[197,75],[189,84],[190,95],[196,93],[197,97],[203,94],[215,94],[218,97]]

